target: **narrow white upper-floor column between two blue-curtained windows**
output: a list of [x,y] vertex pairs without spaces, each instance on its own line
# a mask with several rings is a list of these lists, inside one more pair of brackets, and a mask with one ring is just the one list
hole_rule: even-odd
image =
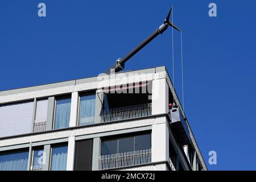
[[79,94],[78,92],[73,92],[71,96],[71,113],[69,127],[76,126],[77,123],[77,109],[79,104]]

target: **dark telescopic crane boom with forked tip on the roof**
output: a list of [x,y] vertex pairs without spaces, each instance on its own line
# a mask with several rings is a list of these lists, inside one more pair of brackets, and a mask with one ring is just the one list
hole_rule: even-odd
[[164,20],[163,24],[159,26],[158,29],[156,29],[155,32],[153,32],[146,40],[144,40],[139,46],[135,47],[133,51],[128,53],[123,59],[118,59],[112,67],[110,67],[105,73],[114,73],[119,72],[125,67],[126,61],[128,61],[131,57],[133,57],[137,52],[139,52],[143,47],[145,47],[148,43],[150,43],[153,39],[156,38],[159,34],[163,34],[164,31],[167,30],[169,26],[175,28],[177,31],[181,32],[179,28],[177,28],[172,22],[170,22],[170,15],[172,13],[172,7]]

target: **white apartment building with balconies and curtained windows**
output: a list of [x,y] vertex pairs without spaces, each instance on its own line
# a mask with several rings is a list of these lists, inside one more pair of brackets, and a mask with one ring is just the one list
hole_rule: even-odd
[[0,170],[108,169],[207,170],[165,67],[0,92]]

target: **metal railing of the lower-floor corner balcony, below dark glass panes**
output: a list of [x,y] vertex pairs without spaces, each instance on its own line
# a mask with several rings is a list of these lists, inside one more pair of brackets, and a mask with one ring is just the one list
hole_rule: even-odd
[[99,169],[111,169],[146,163],[151,163],[151,149],[100,156]]

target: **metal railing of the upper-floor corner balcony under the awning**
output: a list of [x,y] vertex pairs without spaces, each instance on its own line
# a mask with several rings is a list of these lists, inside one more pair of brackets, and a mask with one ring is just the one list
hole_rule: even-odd
[[151,115],[151,103],[101,110],[101,122],[118,121]]

